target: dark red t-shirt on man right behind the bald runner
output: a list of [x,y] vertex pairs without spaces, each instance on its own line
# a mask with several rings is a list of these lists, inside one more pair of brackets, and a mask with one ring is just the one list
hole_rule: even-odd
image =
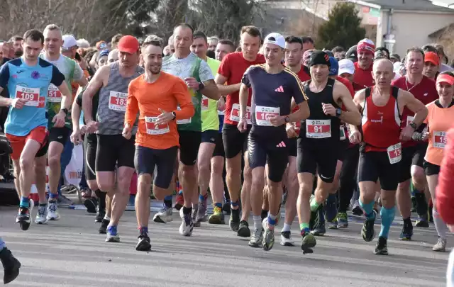
[[[406,80],[406,77],[400,77],[397,80],[392,81],[391,83],[393,86],[397,86],[404,91],[409,91],[416,99],[419,99],[424,105],[436,101],[438,99],[438,92],[435,86],[435,81],[429,79],[426,76],[423,76],[423,79],[419,84],[410,84],[409,81]],[[400,127],[405,128],[411,121],[413,121],[414,113],[410,111],[408,108],[404,108],[402,112],[402,122]],[[409,140],[408,142],[402,142],[403,147],[409,147],[417,145],[418,142],[414,140]]]

